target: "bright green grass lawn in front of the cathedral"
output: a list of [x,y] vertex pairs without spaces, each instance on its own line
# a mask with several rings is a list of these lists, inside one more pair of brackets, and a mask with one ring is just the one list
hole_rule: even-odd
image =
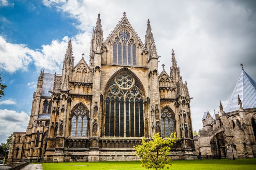
[[[69,170],[69,169],[89,169],[89,170],[137,170],[144,169],[140,161],[128,162],[76,162],[76,163],[44,163],[43,170]],[[179,170],[256,170],[256,159],[238,160],[173,160],[170,169]]]

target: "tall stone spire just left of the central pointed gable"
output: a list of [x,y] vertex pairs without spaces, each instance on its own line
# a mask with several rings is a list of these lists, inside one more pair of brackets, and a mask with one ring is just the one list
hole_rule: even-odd
[[101,46],[103,42],[103,31],[101,27],[100,13],[98,14],[95,29],[93,30],[93,36],[91,37],[91,53],[101,52]]

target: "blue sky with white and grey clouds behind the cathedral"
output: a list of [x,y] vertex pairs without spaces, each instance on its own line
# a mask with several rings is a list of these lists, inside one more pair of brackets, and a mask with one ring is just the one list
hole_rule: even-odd
[[126,12],[142,42],[150,19],[159,56],[169,73],[174,49],[191,100],[193,130],[202,116],[219,111],[242,71],[256,80],[256,2],[253,0],[0,0],[0,143],[25,132],[38,76],[61,73],[69,39],[75,62],[89,61],[90,40],[100,13],[104,39]]

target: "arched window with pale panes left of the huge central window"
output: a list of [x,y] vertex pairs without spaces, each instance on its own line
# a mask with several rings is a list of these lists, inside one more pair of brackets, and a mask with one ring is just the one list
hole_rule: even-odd
[[70,125],[70,136],[82,136],[87,137],[88,127],[88,113],[84,106],[79,105],[72,113],[71,125]]

